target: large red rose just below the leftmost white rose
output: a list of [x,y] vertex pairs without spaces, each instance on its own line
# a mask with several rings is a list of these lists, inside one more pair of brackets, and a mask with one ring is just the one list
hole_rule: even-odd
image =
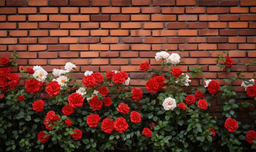
[[43,87],[43,83],[35,79],[26,80],[25,85],[26,91],[31,94],[37,94]]

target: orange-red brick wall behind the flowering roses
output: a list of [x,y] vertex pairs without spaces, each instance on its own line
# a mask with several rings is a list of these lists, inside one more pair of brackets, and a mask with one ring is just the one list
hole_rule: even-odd
[[[255,13],[256,0],[0,0],[0,57],[17,50],[19,65],[47,71],[75,62],[78,78],[86,70],[123,70],[140,86],[141,62],[157,68],[156,52],[184,49],[185,73],[203,66],[203,77],[218,80],[256,61]],[[228,74],[215,65],[223,51],[233,58]]]

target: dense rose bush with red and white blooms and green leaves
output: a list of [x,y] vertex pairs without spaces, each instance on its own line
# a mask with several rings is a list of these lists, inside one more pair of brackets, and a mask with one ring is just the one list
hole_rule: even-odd
[[[180,54],[162,51],[155,58],[162,68],[148,71],[147,62],[138,66],[147,75],[145,90],[127,87],[126,72],[86,71],[77,81],[72,77],[73,63],[52,73],[34,66],[15,74],[9,66],[17,63],[1,58],[0,151],[256,149],[256,113],[238,117],[242,109],[253,106],[248,99],[256,100],[256,74],[250,80],[243,75],[255,62],[244,64],[236,77],[224,79],[227,85],[203,78],[199,86],[190,86],[203,74],[202,67],[185,74],[179,67]],[[219,54],[217,61],[220,69],[231,71],[230,57]],[[245,95],[232,87],[237,82],[244,86]],[[221,108],[218,117],[216,107]]]

